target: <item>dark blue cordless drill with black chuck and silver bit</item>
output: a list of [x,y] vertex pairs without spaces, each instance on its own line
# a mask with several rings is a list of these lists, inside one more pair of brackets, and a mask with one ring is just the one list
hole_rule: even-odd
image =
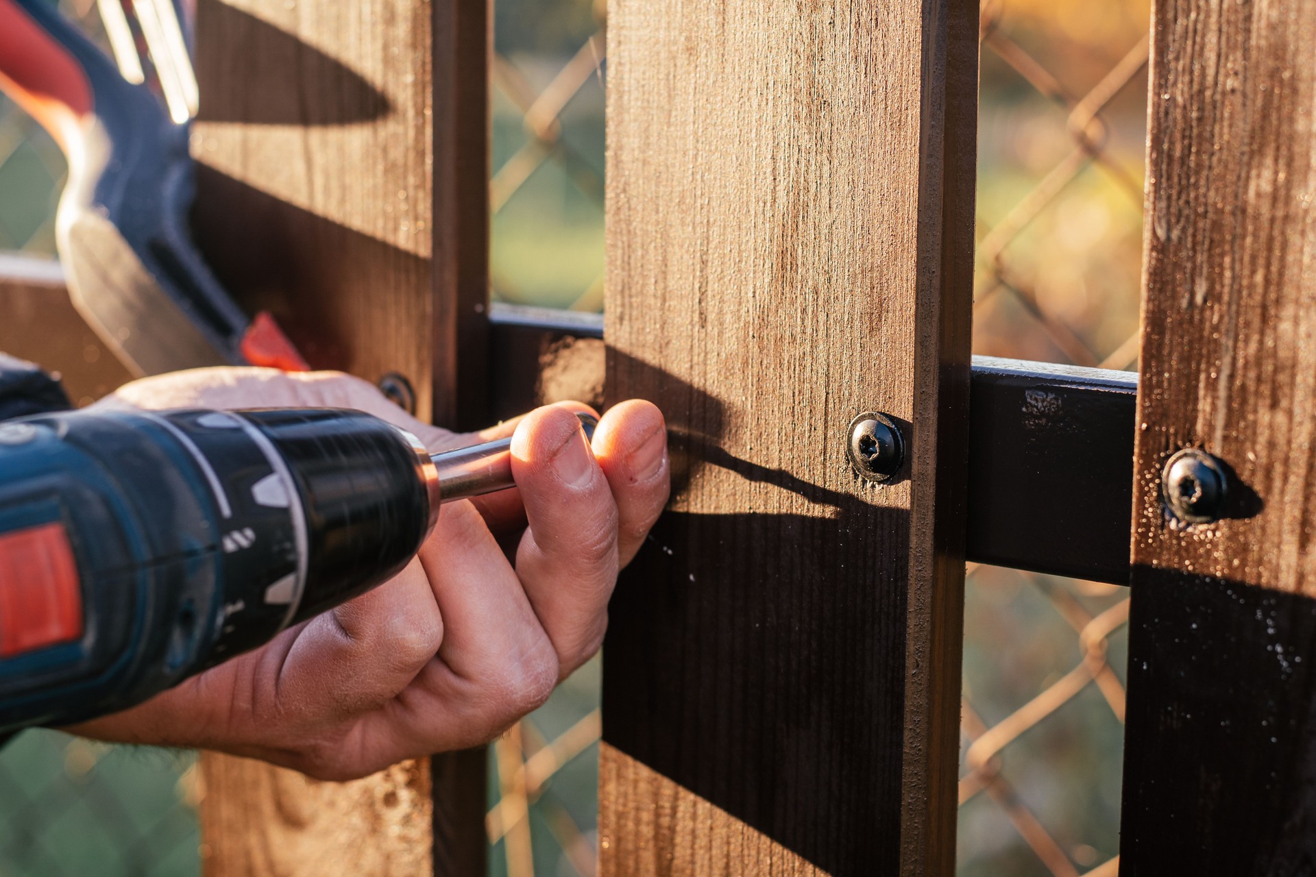
[[512,485],[509,446],[432,456],[336,409],[0,423],[0,735],[126,709],[382,584],[441,502]]

